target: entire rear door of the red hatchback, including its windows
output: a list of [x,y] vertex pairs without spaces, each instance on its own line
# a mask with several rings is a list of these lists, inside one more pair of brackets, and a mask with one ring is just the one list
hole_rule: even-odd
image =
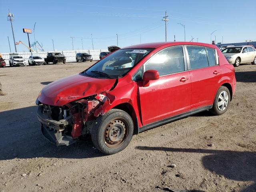
[[191,78],[191,110],[210,106],[221,80],[217,50],[201,46],[186,46]]

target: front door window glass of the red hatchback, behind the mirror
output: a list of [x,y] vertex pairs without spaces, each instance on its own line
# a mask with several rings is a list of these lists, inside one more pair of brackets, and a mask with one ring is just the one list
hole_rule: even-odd
[[184,71],[182,47],[172,47],[158,52],[145,64],[146,70],[157,70],[160,76]]

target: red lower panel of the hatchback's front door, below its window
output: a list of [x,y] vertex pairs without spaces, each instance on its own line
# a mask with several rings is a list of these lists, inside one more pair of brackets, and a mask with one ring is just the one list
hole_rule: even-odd
[[[184,80],[188,78],[188,80]],[[190,110],[190,74],[188,71],[150,81],[148,87],[139,84],[142,124],[150,124]]]

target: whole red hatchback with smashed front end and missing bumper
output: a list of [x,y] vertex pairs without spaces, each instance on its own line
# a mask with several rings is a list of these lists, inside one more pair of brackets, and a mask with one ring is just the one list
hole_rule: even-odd
[[140,44],[45,86],[37,116],[57,146],[91,134],[98,150],[114,154],[139,132],[204,110],[223,114],[235,88],[234,66],[215,45]]

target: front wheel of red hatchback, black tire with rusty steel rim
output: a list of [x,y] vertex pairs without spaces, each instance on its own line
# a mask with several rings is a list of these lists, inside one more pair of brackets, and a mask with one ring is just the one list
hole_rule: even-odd
[[92,142],[102,153],[115,154],[128,146],[133,130],[133,121],[128,113],[111,109],[94,121],[91,131]]

